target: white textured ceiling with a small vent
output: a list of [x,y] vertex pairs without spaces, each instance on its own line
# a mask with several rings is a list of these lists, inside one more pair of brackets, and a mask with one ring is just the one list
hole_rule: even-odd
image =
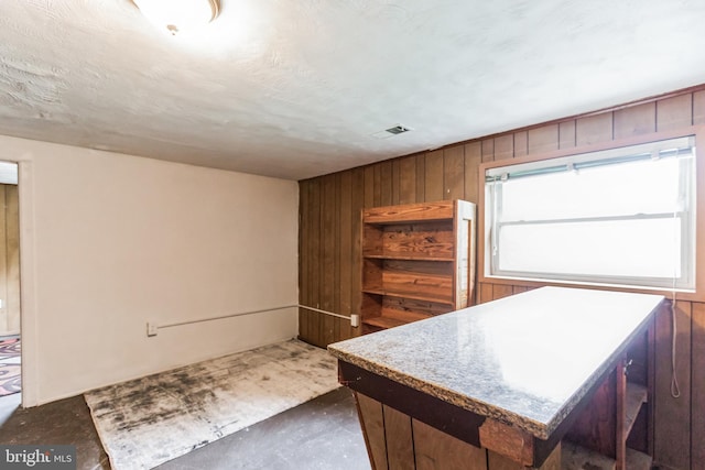
[[172,37],[130,0],[0,0],[0,133],[301,179],[699,85],[704,23],[702,0],[221,0]]

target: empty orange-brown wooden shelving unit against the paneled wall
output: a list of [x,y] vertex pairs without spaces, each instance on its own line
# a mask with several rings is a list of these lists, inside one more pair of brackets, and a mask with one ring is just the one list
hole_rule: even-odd
[[362,211],[362,332],[470,305],[475,214],[465,200]]

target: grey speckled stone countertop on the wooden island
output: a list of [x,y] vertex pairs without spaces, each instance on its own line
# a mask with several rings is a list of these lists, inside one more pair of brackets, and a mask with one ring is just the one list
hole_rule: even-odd
[[328,350],[547,439],[662,300],[661,295],[542,287]]

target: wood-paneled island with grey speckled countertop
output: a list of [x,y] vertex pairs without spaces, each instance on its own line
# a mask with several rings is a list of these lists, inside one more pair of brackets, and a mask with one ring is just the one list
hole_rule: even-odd
[[[372,468],[558,469],[561,440],[610,374],[623,376],[627,347],[662,303],[542,287],[328,350],[356,394]],[[623,419],[616,427],[619,467]]]

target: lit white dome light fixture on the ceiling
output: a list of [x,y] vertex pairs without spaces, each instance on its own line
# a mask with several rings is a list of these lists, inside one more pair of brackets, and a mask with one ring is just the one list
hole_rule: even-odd
[[204,26],[220,12],[220,0],[132,1],[152,23],[172,35]]

